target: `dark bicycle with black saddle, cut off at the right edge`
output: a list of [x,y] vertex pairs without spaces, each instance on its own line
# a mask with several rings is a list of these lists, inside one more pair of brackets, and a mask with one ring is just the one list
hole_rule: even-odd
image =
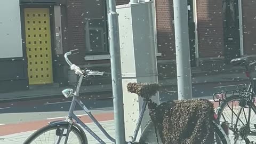
[[[256,61],[249,62],[249,57],[236,58],[230,61],[233,66],[243,66],[245,67],[245,74],[249,78],[249,85],[241,84],[237,85],[235,90],[217,92],[213,94],[213,100],[219,102],[219,107],[216,111],[217,119],[220,123],[228,125],[226,127],[226,134],[230,137],[232,143],[255,143],[256,137],[252,138],[254,141],[249,139],[252,136],[256,136],[256,124],[251,125],[251,113],[256,114],[256,107],[254,105],[255,93],[256,93],[256,78],[252,77],[252,71],[256,70]],[[252,70],[252,68],[254,68]],[[230,94],[229,97],[227,95]],[[230,103],[230,104],[229,104]],[[239,107],[235,108],[234,107]],[[226,110],[227,108],[227,110]],[[238,110],[238,114],[235,114],[235,110]],[[246,110],[248,113],[246,113]],[[251,111],[253,110],[253,111]],[[229,114],[231,112],[231,114]],[[228,119],[228,116],[225,114],[231,115],[231,118]],[[248,114],[248,115],[247,115]],[[242,117],[244,115],[244,118]],[[239,118],[241,116],[241,118]],[[245,119],[246,123],[243,123],[242,120]],[[230,133],[231,131],[231,133]],[[234,142],[233,142],[234,141]]]

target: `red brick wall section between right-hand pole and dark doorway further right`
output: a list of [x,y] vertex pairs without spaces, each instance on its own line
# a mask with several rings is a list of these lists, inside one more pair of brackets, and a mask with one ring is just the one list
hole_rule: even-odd
[[199,58],[223,55],[222,1],[197,0]]

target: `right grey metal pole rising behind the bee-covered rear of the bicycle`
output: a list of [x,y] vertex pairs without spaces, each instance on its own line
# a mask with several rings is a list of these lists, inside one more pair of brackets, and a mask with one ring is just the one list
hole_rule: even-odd
[[192,98],[190,53],[188,39],[188,3],[173,0],[179,100]]

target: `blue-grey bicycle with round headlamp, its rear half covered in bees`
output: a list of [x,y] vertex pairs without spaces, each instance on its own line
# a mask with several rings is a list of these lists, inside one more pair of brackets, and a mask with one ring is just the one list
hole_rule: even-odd
[[[73,100],[71,102],[70,105],[70,109],[69,109],[69,113],[68,116],[66,118],[66,120],[62,120],[62,121],[51,121],[49,122],[48,125],[42,127],[41,129],[37,130],[36,132],[34,132],[33,134],[30,135],[30,137],[24,142],[24,144],[30,144],[30,143],[75,143],[74,140],[76,140],[77,143],[80,144],[87,144],[87,137],[85,135],[85,132],[83,131],[82,127],[89,133],[92,135],[92,137],[94,139],[96,139],[99,143],[106,143],[105,141],[103,141],[101,138],[98,137],[97,134],[95,134],[86,124],[84,124],[75,114],[74,114],[74,108],[76,106],[76,104],[78,103],[79,106],[81,106],[83,108],[83,110],[85,111],[85,113],[92,119],[92,121],[94,122],[95,125],[98,126],[98,128],[101,130],[101,132],[103,134],[106,135],[106,137],[112,141],[113,143],[115,143],[115,139],[113,137],[111,137],[107,131],[101,126],[101,124],[97,121],[97,119],[94,118],[94,116],[91,114],[91,111],[89,109],[86,108],[86,106],[83,104],[83,102],[81,101],[81,99],[79,99],[78,95],[79,95],[79,88],[81,86],[82,80],[84,77],[88,77],[90,75],[100,75],[103,76],[105,73],[99,72],[99,71],[91,71],[91,70],[81,70],[78,66],[74,65],[73,63],[71,63],[68,59],[68,55],[71,54],[76,54],[77,53],[77,49],[76,50],[71,50],[67,53],[65,53],[64,57],[65,60],[67,61],[68,65],[70,66],[71,70],[74,70],[75,73],[77,75],[79,75],[79,81],[77,84],[77,89],[74,92],[72,89],[66,89],[62,91],[62,94],[66,97],[73,97]],[[143,89],[143,87],[141,87],[141,89]],[[155,93],[158,91],[157,89],[154,90]],[[139,118],[137,120],[137,126],[135,127],[133,136],[132,136],[132,140],[128,141],[127,143],[139,143],[139,142],[135,142],[135,140],[137,139],[138,136],[138,132],[141,126],[141,121],[143,118],[143,115],[145,113],[145,109],[147,107],[147,101],[143,102],[142,105],[142,109],[140,111],[140,115]],[[79,126],[79,125],[81,126]],[[229,140],[227,138],[227,135],[225,134],[225,132],[222,130],[222,127],[217,124],[216,121],[213,121],[212,124],[214,125],[214,131],[216,133],[216,135],[218,135],[218,139],[219,142],[221,144],[229,144]],[[50,130],[54,130],[54,138],[49,135],[45,135],[45,132],[48,132]],[[148,125],[145,127],[145,129],[143,130],[142,134],[141,134],[141,138],[140,138],[140,143],[158,143],[158,139],[156,139],[155,134],[158,133],[158,131],[156,131],[156,133],[154,131],[154,124],[149,122]],[[70,141],[71,138],[73,138],[73,136],[71,137],[71,134],[75,134],[76,138],[72,139],[73,141]],[[44,134],[44,135],[43,135]],[[41,139],[42,136],[42,139]],[[57,137],[57,138],[56,138]],[[39,138],[39,139],[37,139]],[[49,141],[46,141],[46,138],[52,138]],[[63,139],[62,139],[63,138]],[[36,141],[38,140],[38,141]],[[160,142],[161,143],[161,142]],[[215,142],[214,142],[215,143]]]

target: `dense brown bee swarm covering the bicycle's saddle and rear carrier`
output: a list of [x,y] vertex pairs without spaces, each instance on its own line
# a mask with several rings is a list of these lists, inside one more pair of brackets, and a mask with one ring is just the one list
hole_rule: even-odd
[[157,105],[150,98],[158,88],[157,84],[127,85],[129,92],[147,101],[151,121],[164,144],[214,143],[212,102],[205,99],[173,100]]

